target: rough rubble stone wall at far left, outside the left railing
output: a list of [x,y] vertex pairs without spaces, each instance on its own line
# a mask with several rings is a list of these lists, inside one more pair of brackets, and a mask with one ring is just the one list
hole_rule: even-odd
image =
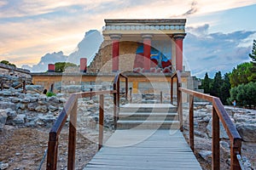
[[21,89],[0,91],[0,130],[5,124],[18,127],[52,126],[63,108],[64,94],[22,94]]

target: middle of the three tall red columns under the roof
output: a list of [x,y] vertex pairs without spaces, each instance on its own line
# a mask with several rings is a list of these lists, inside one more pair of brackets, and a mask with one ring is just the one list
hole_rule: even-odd
[[151,39],[152,39],[151,35],[143,35],[144,72],[150,72]]

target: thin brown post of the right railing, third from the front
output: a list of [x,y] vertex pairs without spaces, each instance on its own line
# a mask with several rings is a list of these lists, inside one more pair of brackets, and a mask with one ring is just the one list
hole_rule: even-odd
[[194,96],[189,95],[189,144],[194,151]]

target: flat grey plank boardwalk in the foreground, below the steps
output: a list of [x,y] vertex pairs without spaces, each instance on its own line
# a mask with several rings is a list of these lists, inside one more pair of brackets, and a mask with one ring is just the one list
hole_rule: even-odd
[[201,169],[179,130],[116,130],[84,167],[95,169]]

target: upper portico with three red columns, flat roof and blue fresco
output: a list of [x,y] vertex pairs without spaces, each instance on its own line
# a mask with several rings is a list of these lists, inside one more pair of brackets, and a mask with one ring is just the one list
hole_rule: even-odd
[[89,71],[183,71],[185,23],[185,19],[105,20],[104,42]]

